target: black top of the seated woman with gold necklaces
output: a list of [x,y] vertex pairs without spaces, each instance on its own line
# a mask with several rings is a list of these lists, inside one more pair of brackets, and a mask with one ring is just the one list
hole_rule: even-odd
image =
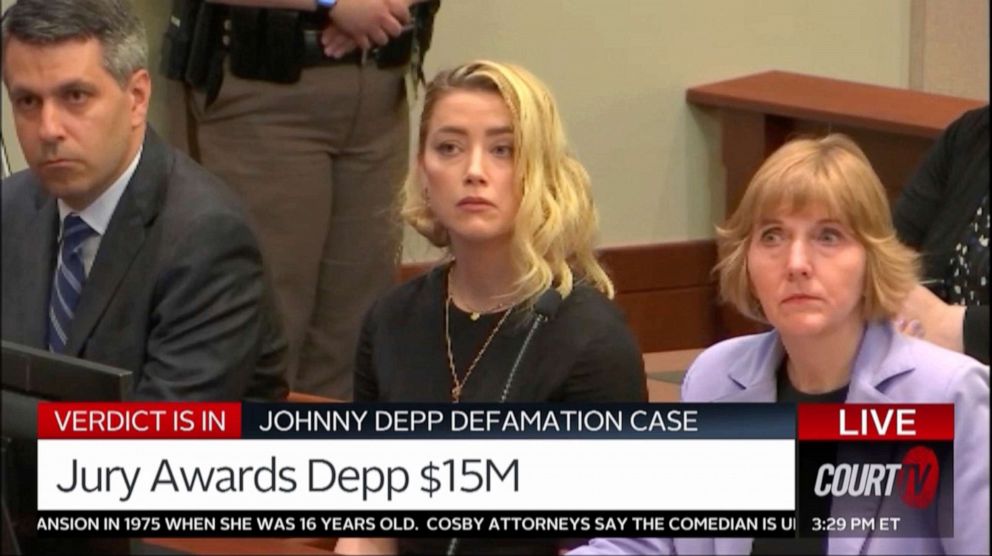
[[[444,331],[447,266],[397,286],[369,310],[362,326],[355,401],[450,402],[452,378]],[[459,380],[502,313],[473,321],[450,308]],[[493,336],[465,381],[461,401],[496,402],[533,315],[516,309]],[[534,336],[513,380],[510,402],[644,402],[644,360],[616,306],[576,286]],[[578,487],[578,486],[577,486]],[[399,539],[401,553],[443,554],[451,539]],[[460,539],[458,554],[557,554],[562,539]]]

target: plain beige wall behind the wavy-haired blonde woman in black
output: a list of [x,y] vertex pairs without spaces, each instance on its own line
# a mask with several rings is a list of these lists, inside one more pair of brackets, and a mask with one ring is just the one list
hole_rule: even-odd
[[909,7],[905,0],[447,1],[428,74],[487,57],[544,79],[592,175],[604,244],[710,237],[723,204],[718,121],[690,109],[685,89],[766,69],[906,87]]

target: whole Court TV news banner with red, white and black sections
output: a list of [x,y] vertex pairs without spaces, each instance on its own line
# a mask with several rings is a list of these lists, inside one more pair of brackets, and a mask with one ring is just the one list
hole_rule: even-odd
[[949,535],[952,441],[951,405],[42,403],[37,530]]

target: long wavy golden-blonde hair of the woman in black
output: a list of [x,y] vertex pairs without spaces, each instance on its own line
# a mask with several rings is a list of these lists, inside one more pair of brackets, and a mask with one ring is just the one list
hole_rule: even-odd
[[401,193],[403,219],[435,246],[450,248],[447,230],[424,198],[418,166],[434,109],[453,91],[496,93],[513,120],[514,186],[520,208],[512,253],[520,277],[512,296],[532,304],[547,288],[567,297],[577,282],[585,282],[612,298],[613,283],[593,251],[598,217],[589,175],[568,149],[551,92],[519,66],[478,60],[442,71],[427,85],[417,160]]

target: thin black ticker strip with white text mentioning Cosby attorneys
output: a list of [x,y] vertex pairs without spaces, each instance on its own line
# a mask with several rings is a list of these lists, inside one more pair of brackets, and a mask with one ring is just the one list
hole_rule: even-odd
[[50,537],[794,537],[793,512],[41,512]]

